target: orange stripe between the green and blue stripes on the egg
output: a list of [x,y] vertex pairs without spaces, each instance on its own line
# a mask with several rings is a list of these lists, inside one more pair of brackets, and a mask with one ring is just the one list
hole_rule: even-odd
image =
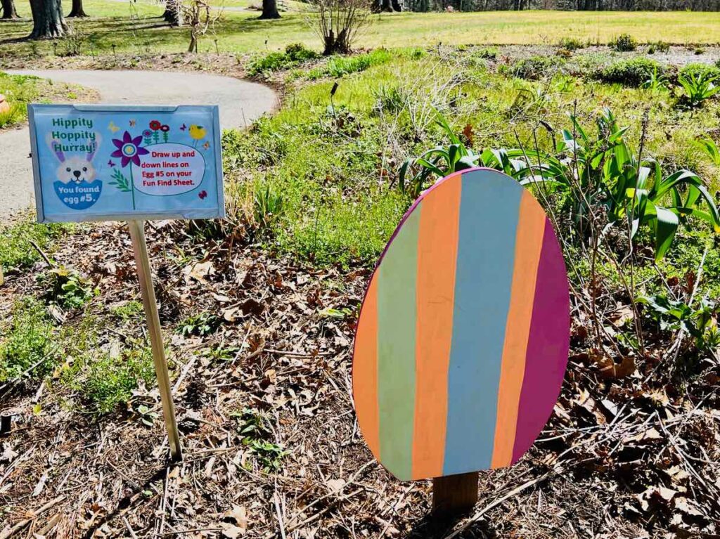
[[413,477],[441,476],[462,181],[447,178],[422,201],[418,232]]

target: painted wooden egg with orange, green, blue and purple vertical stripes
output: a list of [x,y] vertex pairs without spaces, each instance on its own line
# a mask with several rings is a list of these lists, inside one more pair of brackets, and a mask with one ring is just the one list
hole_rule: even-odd
[[452,174],[402,218],[366,291],[353,357],[366,443],[402,480],[510,466],[552,413],[569,343],[540,204],[498,171]]

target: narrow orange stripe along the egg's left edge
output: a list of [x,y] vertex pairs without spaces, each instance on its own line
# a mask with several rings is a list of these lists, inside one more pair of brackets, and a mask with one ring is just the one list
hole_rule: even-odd
[[[353,398],[358,422],[372,454],[380,458],[380,420],[377,400],[377,281],[372,276],[362,304],[355,335]],[[362,355],[362,357],[359,357]]]

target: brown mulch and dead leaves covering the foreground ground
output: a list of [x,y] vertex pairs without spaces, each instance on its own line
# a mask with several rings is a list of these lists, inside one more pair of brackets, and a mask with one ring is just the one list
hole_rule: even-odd
[[[351,399],[354,315],[369,271],[298,265],[243,244],[197,240],[192,224],[148,227],[184,461],[168,461],[157,389],[141,386],[128,410],[95,417],[51,376],[1,390],[14,426],[0,438],[0,538],[649,538],[717,537],[720,522],[719,371],[670,381],[667,358],[608,369],[587,353],[573,311],[572,357],[562,396],[539,441],[513,468],[480,473],[474,513],[428,517],[429,481],[401,482],[379,466]],[[78,253],[84,253],[82,257]],[[143,341],[113,306],[138,300],[127,228],[82,227],[54,257],[99,286],[84,312],[98,346]],[[33,271],[6,276],[0,313],[38,294]],[[333,310],[335,309],[335,310]],[[222,324],[185,337],[181,320],[207,311]],[[58,316],[58,313],[55,313]],[[229,358],[207,350],[233,347]],[[68,361],[71,359],[68,358]],[[238,412],[267,420],[282,446],[266,468],[240,432]],[[35,534],[35,535],[33,535]]]

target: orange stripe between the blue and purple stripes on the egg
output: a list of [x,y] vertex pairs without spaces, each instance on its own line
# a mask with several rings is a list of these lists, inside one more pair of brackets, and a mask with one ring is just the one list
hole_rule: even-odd
[[524,191],[520,202],[520,222],[516,235],[510,309],[505,325],[492,468],[510,466],[513,458],[518,405],[523,387],[528,334],[545,219],[545,213],[540,204],[530,194],[530,191]]

